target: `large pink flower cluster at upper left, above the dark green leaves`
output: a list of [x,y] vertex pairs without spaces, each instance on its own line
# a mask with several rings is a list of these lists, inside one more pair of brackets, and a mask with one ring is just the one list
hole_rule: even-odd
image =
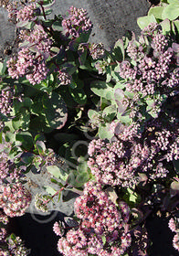
[[29,44],[18,52],[17,57],[7,61],[8,73],[13,79],[26,76],[35,85],[47,78],[46,59],[49,57],[52,41],[40,25],[35,26],[30,34],[21,34],[21,37]]

